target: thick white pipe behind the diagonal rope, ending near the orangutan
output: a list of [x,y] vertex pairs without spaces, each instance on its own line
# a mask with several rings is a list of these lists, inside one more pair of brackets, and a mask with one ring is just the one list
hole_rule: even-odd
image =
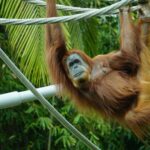
[[[37,89],[40,94],[44,97],[50,97],[56,95],[58,92],[57,85],[50,85]],[[20,105],[24,102],[30,102],[36,100],[36,97],[31,91],[23,91],[23,92],[11,92],[0,95],[0,109],[9,108],[13,106]]]

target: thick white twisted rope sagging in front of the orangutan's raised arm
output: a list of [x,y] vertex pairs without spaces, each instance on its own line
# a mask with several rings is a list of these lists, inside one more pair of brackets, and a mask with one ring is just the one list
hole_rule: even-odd
[[133,0],[122,0],[120,2],[117,2],[115,4],[112,4],[110,6],[101,8],[101,9],[96,9],[96,10],[90,10],[88,12],[84,12],[81,14],[75,14],[75,15],[70,15],[70,16],[62,16],[62,17],[51,17],[51,18],[37,18],[37,19],[5,19],[1,18],[0,19],[0,24],[1,25],[7,25],[7,24],[12,24],[12,25],[31,25],[31,24],[46,24],[46,23],[57,23],[57,22],[67,22],[71,20],[81,20],[81,19],[87,19],[91,18],[96,15],[103,15],[106,14],[112,10],[118,9],[121,6],[124,6],[131,2]]

